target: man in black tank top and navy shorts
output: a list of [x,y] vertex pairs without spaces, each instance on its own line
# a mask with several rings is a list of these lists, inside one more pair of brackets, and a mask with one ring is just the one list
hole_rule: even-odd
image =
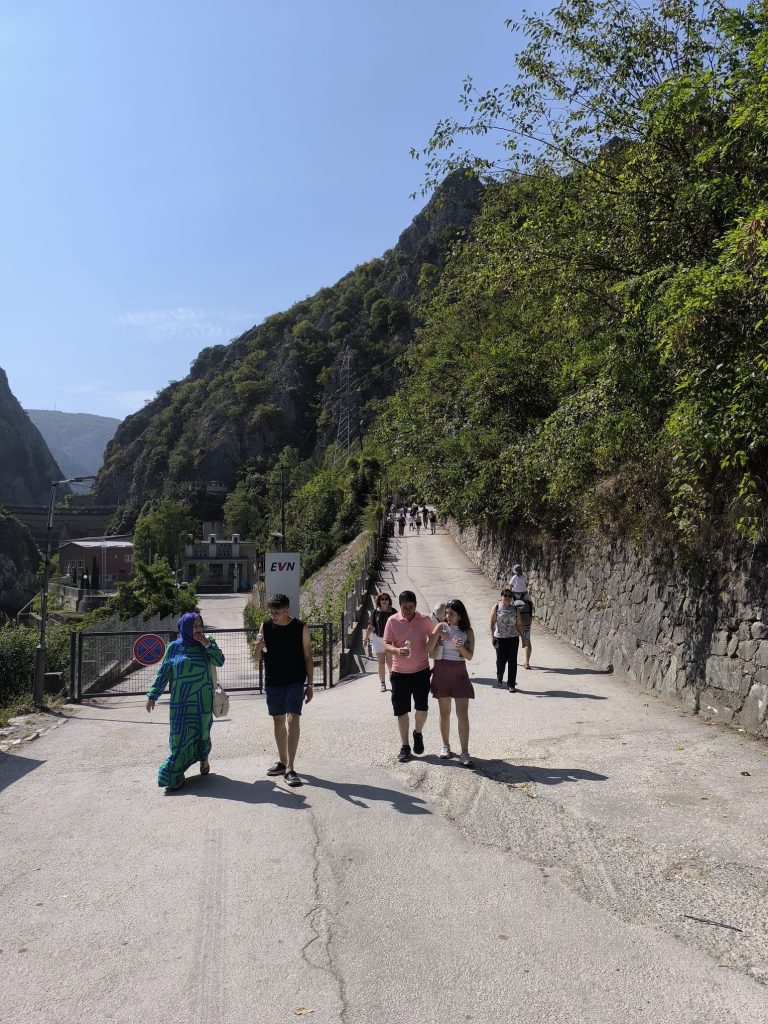
[[291,616],[285,594],[273,594],[267,602],[269,621],[263,623],[254,651],[264,659],[266,708],[272,718],[276,761],[267,775],[284,775],[289,785],[301,785],[294,760],[301,734],[302,705],[312,699],[312,642],[309,628]]

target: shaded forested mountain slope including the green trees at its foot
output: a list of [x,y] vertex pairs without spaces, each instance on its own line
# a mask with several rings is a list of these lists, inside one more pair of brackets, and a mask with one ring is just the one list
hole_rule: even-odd
[[[326,449],[340,418],[355,442],[372,400],[396,387],[395,360],[414,336],[417,304],[477,214],[481,190],[474,177],[450,176],[380,259],[230,344],[204,349],[188,377],[128,417],[97,481],[98,498],[121,507],[115,529],[132,526],[162,496],[198,519],[223,517],[228,529],[265,540],[280,522],[283,467],[286,498],[296,502],[289,521],[303,531],[290,543],[311,542],[319,558],[347,540],[378,477],[370,466],[325,458]],[[350,446],[359,455],[358,440]],[[299,495],[315,473],[314,486]],[[223,484],[223,506],[211,481]]]

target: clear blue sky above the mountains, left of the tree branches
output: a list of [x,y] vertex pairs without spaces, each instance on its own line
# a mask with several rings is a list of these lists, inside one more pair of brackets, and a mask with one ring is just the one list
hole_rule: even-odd
[[122,418],[331,285],[424,200],[409,156],[520,0],[4,0],[0,366]]

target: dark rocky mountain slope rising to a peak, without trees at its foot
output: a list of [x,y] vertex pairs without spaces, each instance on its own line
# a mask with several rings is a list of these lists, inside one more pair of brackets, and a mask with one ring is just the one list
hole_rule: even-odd
[[[228,345],[204,349],[189,375],[129,416],[110,442],[98,500],[130,526],[150,498],[191,499],[263,473],[286,445],[302,457],[335,439],[341,395],[351,418],[399,380],[396,357],[416,328],[415,302],[434,287],[456,238],[477,214],[482,186],[454,175],[380,259],[270,316]],[[198,498],[196,499],[196,496]]]

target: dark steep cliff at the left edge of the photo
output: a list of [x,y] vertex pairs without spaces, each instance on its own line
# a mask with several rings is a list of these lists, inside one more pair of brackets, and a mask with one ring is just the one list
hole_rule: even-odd
[[[47,505],[51,480],[63,474],[0,370],[0,505]],[[59,497],[68,494],[61,487]]]

